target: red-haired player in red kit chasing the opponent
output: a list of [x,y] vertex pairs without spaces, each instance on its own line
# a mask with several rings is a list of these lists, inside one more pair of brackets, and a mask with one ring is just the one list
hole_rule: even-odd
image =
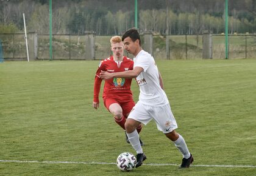
[[[101,89],[102,79],[99,77],[101,70],[107,72],[123,72],[133,69],[132,59],[124,56],[124,44],[120,36],[113,36],[110,39],[111,50],[113,56],[104,59],[99,64],[98,70],[94,79],[94,96],[93,96],[93,107],[94,109],[99,108],[99,92]],[[132,91],[130,90],[130,84],[132,79],[127,78],[113,78],[105,80],[104,90],[102,98],[104,106],[107,110],[113,114],[115,122],[121,126],[124,130],[124,124],[130,111],[135,106],[135,102],[132,98]],[[138,133],[141,131],[141,127],[137,127]],[[127,143],[130,143],[126,136]],[[140,140],[141,145],[143,142]]]

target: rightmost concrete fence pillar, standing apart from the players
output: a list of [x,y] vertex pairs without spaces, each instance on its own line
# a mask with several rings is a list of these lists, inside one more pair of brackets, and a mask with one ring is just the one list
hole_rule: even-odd
[[203,59],[212,59],[213,58],[213,42],[212,42],[212,32],[205,30],[203,33],[203,50],[202,58]]

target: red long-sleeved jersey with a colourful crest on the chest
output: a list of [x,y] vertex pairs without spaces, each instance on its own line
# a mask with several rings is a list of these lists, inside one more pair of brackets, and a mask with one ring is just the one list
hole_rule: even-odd
[[[102,79],[99,78],[99,74],[102,71],[107,71],[110,73],[113,72],[124,72],[127,70],[133,69],[133,61],[132,59],[127,58],[124,56],[123,61],[115,61],[113,56],[110,58],[104,59],[99,64],[99,68],[95,75],[94,80],[94,97],[93,101],[99,102],[99,92],[101,89],[101,81]],[[103,98],[121,98],[122,100],[130,100],[132,97],[132,91],[130,90],[130,84],[132,83],[132,79],[128,78],[112,78],[109,80],[105,80],[104,90],[103,90]]]

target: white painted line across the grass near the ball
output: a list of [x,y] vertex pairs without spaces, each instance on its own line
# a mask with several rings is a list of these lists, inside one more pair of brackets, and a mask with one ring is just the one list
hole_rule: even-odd
[[[105,162],[76,162],[76,161],[20,161],[20,160],[0,160],[0,163],[41,163],[41,164],[116,164],[116,163],[105,163]],[[143,164],[146,166],[179,166],[179,164],[157,164],[157,163],[148,163]],[[191,164],[191,167],[206,167],[206,168],[256,168],[256,166],[249,165],[194,165]]]

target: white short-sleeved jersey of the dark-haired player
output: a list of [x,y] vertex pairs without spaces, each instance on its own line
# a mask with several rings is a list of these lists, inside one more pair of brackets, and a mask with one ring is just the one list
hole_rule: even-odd
[[143,72],[136,78],[138,86],[140,86],[140,102],[149,106],[165,106],[168,104],[166,93],[160,86],[159,72],[154,58],[148,52],[141,50],[133,58],[133,61],[133,68],[143,68]]

